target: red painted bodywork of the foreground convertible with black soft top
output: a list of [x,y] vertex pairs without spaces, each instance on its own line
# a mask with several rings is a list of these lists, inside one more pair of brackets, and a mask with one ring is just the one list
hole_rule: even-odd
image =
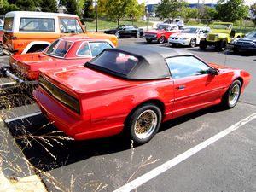
[[[129,114],[145,102],[158,103],[166,121],[218,104],[235,79],[241,79],[242,91],[250,81],[247,72],[209,65],[218,69],[218,75],[143,81],[119,79],[86,67],[42,70],[44,79],[79,101],[80,113],[41,86],[33,95],[43,113],[68,136],[77,140],[109,137],[119,134]],[[179,84],[186,89],[177,90]]]

